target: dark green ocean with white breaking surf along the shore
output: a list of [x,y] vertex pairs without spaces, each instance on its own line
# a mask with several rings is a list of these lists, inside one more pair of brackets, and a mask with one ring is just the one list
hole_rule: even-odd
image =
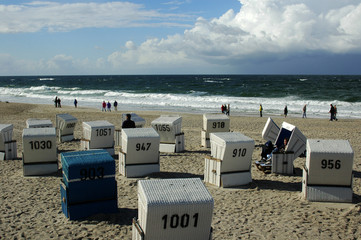
[[327,118],[330,104],[338,118],[361,118],[361,76],[334,75],[100,75],[3,76],[0,101],[101,108],[117,100],[118,110],[214,113],[230,104],[231,115]]

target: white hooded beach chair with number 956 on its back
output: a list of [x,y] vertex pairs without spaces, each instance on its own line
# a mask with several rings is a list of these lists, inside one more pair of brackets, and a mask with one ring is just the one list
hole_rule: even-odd
[[352,202],[354,152],[347,140],[307,140],[302,196],[309,201]]

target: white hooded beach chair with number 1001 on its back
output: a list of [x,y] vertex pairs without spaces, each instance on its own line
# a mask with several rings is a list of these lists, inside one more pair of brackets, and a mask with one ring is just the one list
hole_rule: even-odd
[[199,178],[138,181],[132,239],[212,239],[214,200]]

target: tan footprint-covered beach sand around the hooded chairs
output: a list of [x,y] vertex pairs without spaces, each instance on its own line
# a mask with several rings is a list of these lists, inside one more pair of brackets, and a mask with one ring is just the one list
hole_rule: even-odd
[[[119,212],[96,215],[83,221],[70,221],[61,211],[61,172],[47,177],[23,177],[22,131],[28,118],[52,120],[58,113],[69,113],[83,121],[108,120],[116,128],[122,112],[52,105],[0,102],[0,123],[14,125],[18,160],[0,161],[0,239],[131,239],[132,218],[138,215],[137,180],[118,172],[116,180]],[[164,112],[137,112],[146,127]],[[185,133],[183,153],[161,153],[161,172],[148,178],[203,179],[204,157],[210,149],[200,146],[202,115],[181,114]],[[255,140],[253,162],[259,160],[262,129],[267,116],[231,116],[231,131]],[[353,203],[317,203],[301,198],[302,165],[295,161],[295,175],[264,174],[252,165],[253,182],[237,188],[218,188],[206,184],[214,198],[213,239],[358,239],[361,238],[361,120],[302,119],[273,117],[281,125],[287,121],[310,139],[347,139],[354,150]],[[58,144],[58,150],[79,150],[81,124],[77,124],[77,141]]]

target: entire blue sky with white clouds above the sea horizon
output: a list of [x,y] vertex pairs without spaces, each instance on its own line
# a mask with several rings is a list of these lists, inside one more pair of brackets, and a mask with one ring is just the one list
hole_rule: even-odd
[[0,75],[361,74],[360,0],[0,0]]

